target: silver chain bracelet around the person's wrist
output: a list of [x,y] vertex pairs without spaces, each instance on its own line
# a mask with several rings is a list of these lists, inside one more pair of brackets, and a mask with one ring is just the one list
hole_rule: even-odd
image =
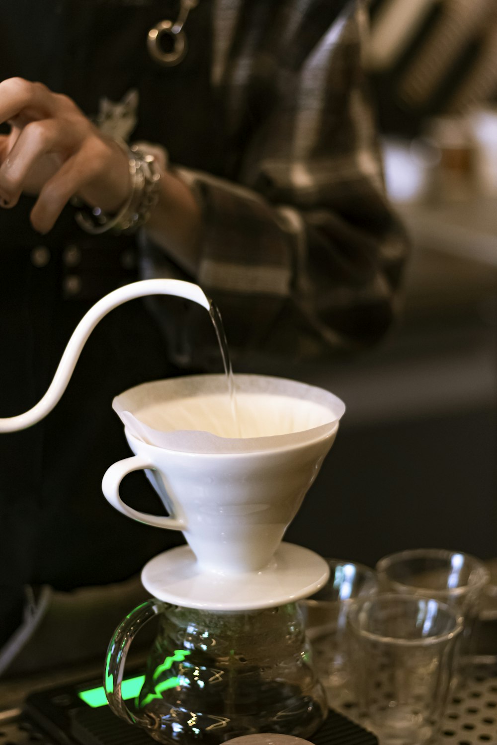
[[159,200],[161,170],[156,156],[146,153],[139,145],[129,150],[131,191],[124,205],[115,215],[99,207],[87,207],[76,212],[77,224],[92,235],[112,230],[115,233],[133,233],[150,218]]

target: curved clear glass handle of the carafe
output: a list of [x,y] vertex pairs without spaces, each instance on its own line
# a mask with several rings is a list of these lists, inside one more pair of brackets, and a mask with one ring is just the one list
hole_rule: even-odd
[[164,603],[152,597],[128,613],[110,640],[107,649],[107,659],[105,661],[104,688],[110,708],[112,708],[118,717],[121,717],[128,723],[140,724],[145,728],[151,728],[153,723],[148,720],[146,714],[139,716],[137,713],[131,713],[124,703],[121,684],[124,678],[124,665],[126,665],[127,653],[136,633],[151,618],[161,613],[163,609]]

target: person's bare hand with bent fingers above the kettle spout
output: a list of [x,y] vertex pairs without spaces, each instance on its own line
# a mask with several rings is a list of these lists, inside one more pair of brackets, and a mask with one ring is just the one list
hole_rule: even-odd
[[0,206],[37,194],[34,229],[45,233],[73,196],[116,212],[130,193],[127,155],[99,132],[75,102],[42,83],[11,77],[0,83]]

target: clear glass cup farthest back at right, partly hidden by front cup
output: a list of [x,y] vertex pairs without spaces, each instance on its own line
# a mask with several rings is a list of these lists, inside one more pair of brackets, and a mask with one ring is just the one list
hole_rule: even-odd
[[463,616],[460,664],[468,668],[475,653],[475,626],[484,588],[490,579],[483,563],[460,551],[417,548],[380,559],[376,573],[384,592],[434,597]]

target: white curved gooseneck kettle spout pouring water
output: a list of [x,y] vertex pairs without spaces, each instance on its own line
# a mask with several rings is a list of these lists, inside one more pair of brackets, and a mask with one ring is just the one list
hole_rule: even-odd
[[123,302],[146,295],[176,295],[193,300],[199,305],[203,305],[207,311],[210,310],[209,299],[203,293],[203,290],[198,285],[194,285],[193,282],[183,282],[180,279],[143,279],[141,282],[132,282],[130,285],[124,285],[124,287],[114,290],[98,300],[77,324],[45,396],[29,411],[0,419],[0,433],[26,429],[43,419],[60,401],[69,384],[83,346],[97,323],[109,311],[117,308],[118,305],[122,305]]

